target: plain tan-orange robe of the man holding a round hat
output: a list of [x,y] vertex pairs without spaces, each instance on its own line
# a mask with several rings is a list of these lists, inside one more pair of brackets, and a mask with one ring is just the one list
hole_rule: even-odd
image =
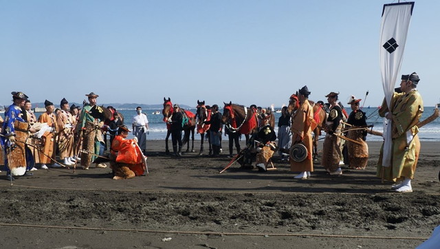
[[[296,138],[300,137],[301,142],[307,148],[307,158],[303,162],[294,162],[290,160],[291,171],[314,171],[314,162],[312,158],[313,153],[313,140],[311,139],[311,131],[316,127],[314,122],[314,110],[311,107],[309,100],[305,100],[292,118],[292,144],[296,143]],[[312,127],[312,125],[314,127]]]

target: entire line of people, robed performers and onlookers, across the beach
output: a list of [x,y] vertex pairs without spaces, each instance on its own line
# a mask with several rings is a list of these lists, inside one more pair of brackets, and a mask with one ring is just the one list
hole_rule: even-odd
[[[390,140],[384,142],[377,165],[377,177],[394,182],[395,191],[406,193],[412,191],[410,184],[414,177],[419,157],[420,143],[417,136],[417,123],[423,112],[423,101],[417,91],[419,76],[415,73],[403,75],[400,87],[395,89],[391,105],[386,100],[380,108],[380,116],[388,120],[391,133]],[[237,132],[237,124],[232,120],[234,113],[231,107],[228,119],[224,119],[218,105],[209,107],[210,118],[204,120],[209,125],[209,141],[212,156],[221,153],[221,135],[225,125],[225,136],[229,136],[229,156],[234,157],[233,145],[236,146],[234,160],[240,160],[242,166],[252,164],[260,171],[266,171],[272,165],[272,155],[278,150],[281,160],[289,160],[294,177],[304,180],[314,172],[313,144],[314,130],[325,131],[321,165],[331,175],[341,175],[341,164],[350,169],[365,169],[369,158],[366,144],[367,128],[366,113],[360,108],[361,99],[351,97],[347,103],[351,113],[344,110],[338,100],[339,93],[331,91],[327,103],[309,100],[311,91],[304,86],[290,98],[289,107],[283,107],[278,120],[278,136],[274,125],[267,122],[270,111],[252,105],[252,113],[258,117],[259,124],[246,148],[241,149]],[[76,165],[80,162],[83,169],[89,169],[92,162],[97,168],[105,168],[102,163],[104,149],[107,148],[103,132],[110,136],[110,165],[114,179],[128,179],[135,175],[144,175],[146,163],[146,134],[148,118],[137,107],[137,115],[133,117],[132,128],[135,138],[128,139],[129,128],[123,125],[120,115],[114,108],[109,108],[111,118],[106,120],[94,116],[94,109],[102,113],[102,107],[96,105],[97,94],[86,94],[89,102],[83,108],[69,106],[63,98],[59,111],[54,103],[45,100],[45,113],[37,119],[32,112],[32,104],[23,92],[13,91],[13,103],[6,109],[1,125],[0,163],[4,164],[8,180],[13,176],[32,175],[30,171]],[[315,108],[317,107],[317,108]],[[325,110],[325,120],[320,120],[318,113]],[[105,112],[105,111],[104,111]],[[179,105],[173,105],[173,115],[166,120],[170,125],[173,140],[173,155],[181,156],[181,132],[185,122],[184,114]],[[244,121],[243,121],[244,122]],[[275,140],[278,138],[278,144]],[[388,144],[388,147],[387,147]],[[60,160],[55,160],[56,155]]]

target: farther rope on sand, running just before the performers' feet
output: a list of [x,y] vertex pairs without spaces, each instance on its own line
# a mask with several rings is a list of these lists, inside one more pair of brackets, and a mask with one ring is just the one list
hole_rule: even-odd
[[[10,186],[10,184],[0,184],[2,186]],[[366,193],[339,193],[339,192],[252,192],[252,191],[148,191],[145,189],[109,189],[109,188],[50,188],[43,186],[29,186],[29,185],[21,185],[14,184],[14,186],[19,186],[22,188],[36,188],[36,189],[45,189],[45,190],[54,190],[54,191],[115,191],[115,192],[144,192],[144,193],[214,193],[214,194],[224,194],[224,193],[232,193],[232,194],[252,194],[252,195],[319,195],[319,194],[337,194],[337,195],[367,195]],[[426,195],[440,195],[440,193],[425,193]],[[369,195],[399,195],[396,192],[384,192],[384,193],[373,193]],[[408,194],[403,194],[408,195]],[[402,195],[402,196],[403,196]]]

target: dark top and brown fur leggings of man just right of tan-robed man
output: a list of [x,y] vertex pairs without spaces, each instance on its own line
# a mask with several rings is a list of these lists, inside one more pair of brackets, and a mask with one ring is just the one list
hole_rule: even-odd
[[[334,133],[340,133],[343,115],[339,105],[329,109],[329,118],[327,118],[326,123],[328,132],[325,135],[321,160],[322,166],[324,166],[328,172],[335,172],[339,168],[339,162],[342,158],[340,138]],[[333,133],[331,134],[331,132]]]

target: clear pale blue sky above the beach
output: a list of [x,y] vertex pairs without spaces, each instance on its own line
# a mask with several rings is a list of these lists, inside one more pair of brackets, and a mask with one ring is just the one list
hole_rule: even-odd
[[[94,91],[98,104],[281,107],[307,85],[311,100],[378,106],[382,8],[396,2],[0,0],[0,105],[11,91],[56,105]],[[401,65],[425,106],[440,102],[439,10],[415,1]]]

